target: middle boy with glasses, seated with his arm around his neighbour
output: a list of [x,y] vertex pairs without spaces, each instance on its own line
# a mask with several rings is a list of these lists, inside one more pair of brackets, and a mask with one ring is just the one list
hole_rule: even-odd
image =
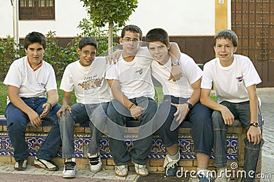
[[[115,163],[115,172],[119,177],[127,176],[127,162],[132,159],[136,173],[149,175],[145,166],[151,150],[152,118],[157,111],[154,87],[151,79],[151,55],[147,48],[141,48],[142,31],[136,25],[127,25],[121,32],[121,57],[106,72],[106,79],[114,99],[108,106],[108,132],[110,133],[110,151]],[[175,76],[177,77],[177,76]],[[168,78],[169,79],[169,78]],[[171,77],[170,77],[171,79]],[[123,133],[125,123],[138,120],[140,128],[138,138],[127,151]]]

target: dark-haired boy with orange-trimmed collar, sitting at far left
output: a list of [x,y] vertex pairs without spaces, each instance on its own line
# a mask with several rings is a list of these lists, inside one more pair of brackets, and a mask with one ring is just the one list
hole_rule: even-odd
[[14,148],[15,170],[27,168],[27,143],[25,131],[27,122],[40,127],[41,119],[53,122],[45,142],[39,148],[34,164],[46,170],[58,170],[51,161],[61,144],[58,116],[58,92],[53,67],[42,60],[47,47],[47,39],[33,31],[25,37],[24,48],[27,55],[15,60],[8,70],[3,83],[8,86],[7,118],[8,135]]

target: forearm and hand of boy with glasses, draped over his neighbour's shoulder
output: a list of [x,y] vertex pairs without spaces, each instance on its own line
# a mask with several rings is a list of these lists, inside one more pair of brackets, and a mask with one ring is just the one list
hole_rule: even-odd
[[[181,55],[181,51],[179,49],[179,46],[176,42],[170,42],[171,49],[169,49],[169,54],[171,55],[171,62],[178,61],[179,57]],[[179,65],[171,66],[171,76],[169,77],[169,80],[177,81],[179,80],[183,74],[182,74],[182,68]]]

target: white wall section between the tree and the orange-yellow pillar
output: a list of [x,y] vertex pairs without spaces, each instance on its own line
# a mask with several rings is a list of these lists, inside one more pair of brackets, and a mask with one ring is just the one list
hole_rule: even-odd
[[169,36],[214,35],[214,0],[138,0],[127,24],[138,25],[143,34],[162,27]]

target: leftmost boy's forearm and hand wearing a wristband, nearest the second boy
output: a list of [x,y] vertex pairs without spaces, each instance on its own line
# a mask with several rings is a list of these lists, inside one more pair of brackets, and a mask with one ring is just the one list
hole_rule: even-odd
[[44,111],[42,114],[40,114],[40,118],[45,118],[49,111],[51,110],[51,107],[54,107],[58,103],[58,92],[57,90],[49,90],[47,92],[47,103],[44,103],[42,107],[44,108]]

